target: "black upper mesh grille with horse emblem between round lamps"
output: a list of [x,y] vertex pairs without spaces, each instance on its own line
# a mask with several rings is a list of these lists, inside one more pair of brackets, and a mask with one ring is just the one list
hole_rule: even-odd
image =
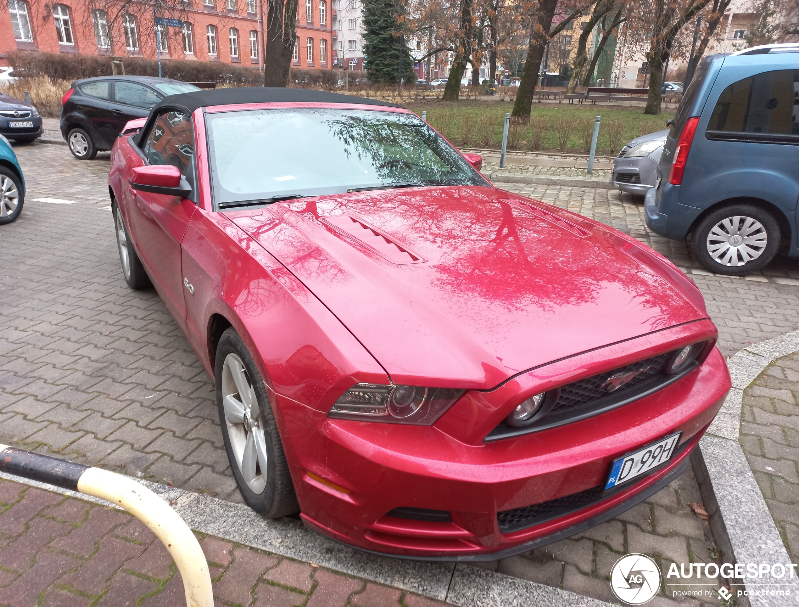
[[[663,370],[663,363],[666,362],[666,357],[668,356],[667,353],[661,354],[654,358],[647,358],[646,361],[634,362],[632,365],[619,367],[618,369],[599,373],[598,375],[564,385],[560,389],[558,402],[555,403],[551,413],[570,409],[571,407],[590,405],[594,401],[610,395],[623,397],[624,394],[633,391],[638,385],[660,375]],[[638,374],[633,375],[632,379],[614,389],[614,385],[619,385],[631,373]]]

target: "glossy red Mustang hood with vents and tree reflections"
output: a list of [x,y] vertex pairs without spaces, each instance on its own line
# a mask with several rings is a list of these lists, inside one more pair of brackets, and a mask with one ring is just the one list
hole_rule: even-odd
[[487,187],[377,190],[228,213],[403,384],[519,371],[707,317],[658,254]]

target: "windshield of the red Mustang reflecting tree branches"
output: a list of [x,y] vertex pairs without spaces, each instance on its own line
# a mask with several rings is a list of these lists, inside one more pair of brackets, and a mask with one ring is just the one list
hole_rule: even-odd
[[245,110],[205,120],[219,206],[392,186],[488,185],[414,114]]

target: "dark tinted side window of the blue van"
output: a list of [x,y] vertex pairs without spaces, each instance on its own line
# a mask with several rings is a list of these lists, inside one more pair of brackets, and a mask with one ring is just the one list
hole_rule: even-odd
[[733,82],[719,95],[707,130],[799,134],[799,70],[777,70]]

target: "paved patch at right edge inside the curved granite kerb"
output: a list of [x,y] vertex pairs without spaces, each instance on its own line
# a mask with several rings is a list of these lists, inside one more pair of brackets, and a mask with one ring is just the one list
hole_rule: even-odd
[[799,353],[744,391],[741,445],[792,562],[799,561]]

